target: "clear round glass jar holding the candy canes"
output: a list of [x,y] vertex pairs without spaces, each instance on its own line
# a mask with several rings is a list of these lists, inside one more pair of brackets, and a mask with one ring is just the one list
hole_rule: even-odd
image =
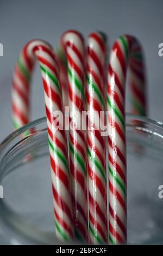
[[[162,244],[163,125],[129,114],[126,122],[128,243]],[[16,130],[2,142],[1,245],[61,245],[54,232],[49,170],[46,118]]]

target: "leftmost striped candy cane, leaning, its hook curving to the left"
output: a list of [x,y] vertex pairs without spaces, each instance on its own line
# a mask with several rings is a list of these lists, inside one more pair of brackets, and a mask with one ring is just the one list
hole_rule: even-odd
[[[73,238],[73,213],[65,131],[54,125],[53,114],[62,111],[58,63],[52,47],[43,40],[24,46],[15,67],[12,86],[12,111],[15,128],[29,122],[30,78],[35,59],[39,61],[48,126],[51,158],[55,230],[62,240]],[[58,120],[60,122],[60,120]]]

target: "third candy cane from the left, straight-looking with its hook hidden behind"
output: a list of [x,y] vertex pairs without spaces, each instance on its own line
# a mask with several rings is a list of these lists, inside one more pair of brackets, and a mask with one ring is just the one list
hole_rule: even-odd
[[[108,223],[106,207],[105,139],[102,135],[105,109],[104,78],[106,37],[101,32],[89,35],[87,46],[87,130],[88,175],[89,175],[89,235],[93,245],[107,242]],[[100,123],[101,121],[101,123]]]

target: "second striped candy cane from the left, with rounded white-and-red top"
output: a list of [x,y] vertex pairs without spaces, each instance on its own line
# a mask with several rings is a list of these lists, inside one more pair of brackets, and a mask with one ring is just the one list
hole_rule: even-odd
[[86,138],[85,130],[80,127],[82,123],[80,117],[82,117],[82,111],[85,109],[84,39],[79,32],[71,30],[62,35],[60,44],[67,58],[68,96],[71,114],[69,149],[75,233],[79,239],[87,240]]

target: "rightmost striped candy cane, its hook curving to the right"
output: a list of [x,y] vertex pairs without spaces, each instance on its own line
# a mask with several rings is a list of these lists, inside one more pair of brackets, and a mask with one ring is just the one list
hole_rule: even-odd
[[133,111],[146,115],[146,80],[139,41],[130,35],[118,38],[111,50],[108,73],[109,134],[109,242],[127,241],[127,174],[125,85],[130,69]]

